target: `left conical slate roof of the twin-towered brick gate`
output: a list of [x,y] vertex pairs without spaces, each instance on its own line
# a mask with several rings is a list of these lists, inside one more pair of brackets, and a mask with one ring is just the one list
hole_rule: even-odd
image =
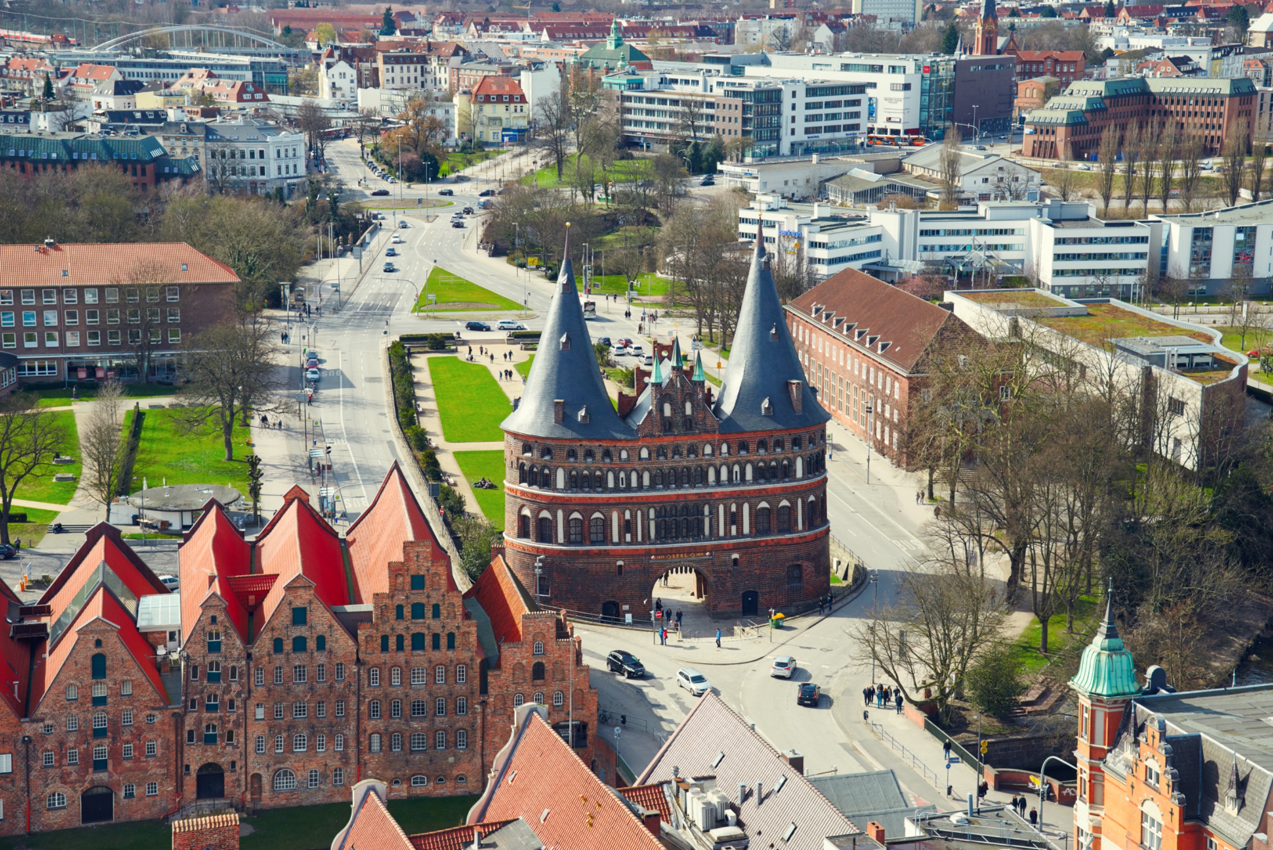
[[[636,433],[615,413],[601,381],[601,368],[574,284],[569,247],[568,237],[556,292],[522,400],[500,428],[526,437],[554,440],[631,440]],[[558,400],[564,403],[560,422],[556,422]]]

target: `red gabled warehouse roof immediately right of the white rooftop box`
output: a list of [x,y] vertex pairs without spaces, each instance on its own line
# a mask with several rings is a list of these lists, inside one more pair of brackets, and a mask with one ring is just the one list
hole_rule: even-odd
[[[225,600],[225,613],[238,633],[247,638],[247,610],[234,591],[232,580],[246,576],[252,562],[252,547],[225,515],[216,500],[204,505],[204,512],[186,533],[178,552],[181,561],[182,644],[199,624],[199,612],[213,594]],[[264,594],[261,596],[264,599]]]

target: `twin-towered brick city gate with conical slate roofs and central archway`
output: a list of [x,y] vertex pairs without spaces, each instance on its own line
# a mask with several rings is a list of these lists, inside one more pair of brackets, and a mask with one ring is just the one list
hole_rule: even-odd
[[[569,252],[566,252],[569,257]],[[561,268],[526,391],[504,421],[505,557],[542,604],[647,618],[690,567],[713,616],[813,605],[829,585],[826,422],[763,240],[719,393],[656,359],[610,403],[574,270]]]

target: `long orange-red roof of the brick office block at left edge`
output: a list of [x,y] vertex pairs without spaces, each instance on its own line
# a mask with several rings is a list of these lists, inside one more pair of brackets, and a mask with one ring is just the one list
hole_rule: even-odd
[[[139,266],[157,265],[165,283],[234,283],[238,275],[185,242],[0,245],[5,284],[90,287],[127,283]],[[182,269],[182,265],[186,269]],[[66,271],[64,275],[62,273]]]

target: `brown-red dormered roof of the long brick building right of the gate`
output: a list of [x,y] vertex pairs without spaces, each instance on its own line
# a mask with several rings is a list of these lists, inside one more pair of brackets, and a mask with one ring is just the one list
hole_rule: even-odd
[[[917,371],[920,358],[938,334],[946,333],[946,329],[959,329],[960,333],[965,329],[953,313],[857,269],[845,269],[827,278],[794,298],[787,308],[808,320],[815,305],[820,310],[812,324],[847,333],[849,339],[857,331],[868,331],[854,344],[866,348],[871,336],[877,338],[871,353],[905,372]],[[844,321],[838,326],[825,322],[821,320],[827,315],[824,311]],[[847,325],[855,328],[845,331]],[[885,343],[887,345],[881,352],[880,347]]]

